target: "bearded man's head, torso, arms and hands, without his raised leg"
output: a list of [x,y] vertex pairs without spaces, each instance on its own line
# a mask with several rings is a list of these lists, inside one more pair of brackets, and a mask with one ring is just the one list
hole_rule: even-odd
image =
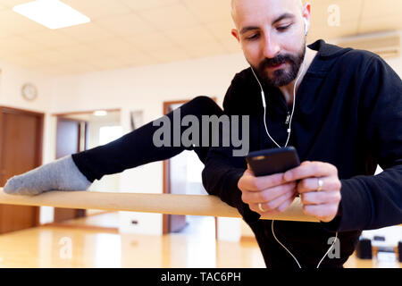
[[[233,0],[232,16],[251,67],[232,80],[224,112],[250,115],[251,151],[288,141],[304,162],[256,178],[244,158],[211,148],[205,189],[239,209],[266,265],[341,267],[362,230],[402,222],[401,80],[371,53],[323,41],[306,47],[310,4]],[[374,177],[377,164],[384,172]],[[259,220],[283,212],[297,194],[321,223]],[[336,235],[340,256],[330,259]]]

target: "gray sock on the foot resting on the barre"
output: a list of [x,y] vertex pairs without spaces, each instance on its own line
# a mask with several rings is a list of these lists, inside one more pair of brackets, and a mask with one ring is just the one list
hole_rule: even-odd
[[71,156],[14,176],[4,186],[11,195],[38,195],[48,190],[87,190],[91,182],[80,172]]

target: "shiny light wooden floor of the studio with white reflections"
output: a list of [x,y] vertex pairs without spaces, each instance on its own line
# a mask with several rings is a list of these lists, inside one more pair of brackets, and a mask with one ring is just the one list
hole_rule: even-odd
[[[216,241],[214,218],[194,218],[185,231],[162,237],[120,234],[117,219],[98,214],[1,235],[0,267],[265,267],[255,242]],[[402,267],[395,257],[380,258],[350,257],[345,266]]]

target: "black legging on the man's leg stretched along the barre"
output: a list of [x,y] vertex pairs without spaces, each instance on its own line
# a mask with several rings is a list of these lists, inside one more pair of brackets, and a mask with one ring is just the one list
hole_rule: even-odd
[[[180,114],[181,118],[186,115],[195,115],[198,122],[202,122],[203,115],[217,115],[219,117],[223,111],[211,98],[196,97],[187,104],[180,106]],[[173,122],[173,112],[166,116]],[[184,150],[194,150],[201,162],[205,164],[209,147],[155,147],[154,133],[159,128],[161,127],[154,126],[153,122],[149,122],[109,144],[74,154],[72,159],[80,172],[91,182],[100,180],[108,174],[123,172],[139,165],[172,158]],[[181,127],[180,135],[187,128]],[[171,130],[171,139],[173,139],[173,128]],[[211,134],[209,138],[211,141]],[[199,139],[202,142],[201,129]]]

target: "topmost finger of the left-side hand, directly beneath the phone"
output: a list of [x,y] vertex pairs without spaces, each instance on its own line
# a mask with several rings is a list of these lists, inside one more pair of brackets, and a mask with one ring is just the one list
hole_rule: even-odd
[[246,172],[245,175],[243,175],[239,180],[239,189],[247,189],[249,191],[261,191],[288,182],[283,180],[283,173],[273,174],[270,176],[255,177],[254,175]]

